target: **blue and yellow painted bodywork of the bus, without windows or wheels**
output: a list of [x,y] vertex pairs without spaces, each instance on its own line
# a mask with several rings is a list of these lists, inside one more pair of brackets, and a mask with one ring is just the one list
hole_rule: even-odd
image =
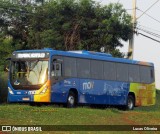
[[[11,82],[11,75],[9,76],[8,81],[8,102],[53,102],[53,103],[67,103],[68,96],[70,91],[72,91],[76,96],[76,103],[78,104],[105,104],[105,105],[127,105],[128,95],[133,95],[136,106],[143,105],[154,105],[155,104],[155,87],[154,80],[150,83],[140,83],[140,82],[130,82],[130,81],[120,81],[120,80],[106,80],[106,79],[94,79],[94,78],[81,78],[81,77],[69,77],[64,76],[63,68],[67,62],[64,63],[63,57],[67,58],[80,58],[88,59],[95,61],[103,62],[112,62],[112,63],[123,63],[127,65],[144,65],[154,68],[152,63],[139,62],[134,60],[128,60],[123,58],[114,58],[109,54],[97,53],[97,52],[88,52],[88,51],[57,51],[52,49],[43,49],[43,50],[21,50],[15,51],[12,55],[11,62],[18,60],[27,61],[29,59],[42,59],[42,57],[33,56],[27,57],[23,54],[39,54],[45,53],[48,54],[48,68],[47,68],[47,80],[41,84],[36,89],[32,89],[31,86],[28,88],[27,85],[23,86],[23,89],[19,87],[15,89],[14,86],[20,86],[20,82],[17,82],[16,79]],[[21,57],[17,57],[18,54]],[[52,78],[52,64],[54,57],[62,57],[62,75],[60,77]],[[58,59],[59,60],[59,59]],[[14,62],[14,64],[15,64]],[[18,64],[18,63],[16,63]],[[78,66],[78,63],[75,63]],[[83,66],[83,65],[81,65]],[[91,68],[91,61],[90,61]],[[104,68],[104,67],[103,67]],[[72,71],[72,70],[70,70]],[[82,70],[83,71],[83,70]],[[93,72],[94,73],[94,72]],[[18,74],[21,74],[20,72]],[[34,74],[34,73],[33,73]],[[78,70],[76,75],[78,74]],[[26,76],[25,76],[26,77]],[[95,76],[96,77],[96,76]],[[110,76],[108,76],[110,77]],[[23,79],[23,78],[22,78]],[[54,79],[54,80],[52,80]],[[18,84],[17,84],[18,83]],[[15,85],[14,85],[15,84]],[[142,94],[151,94],[149,99],[147,97],[141,96],[139,92],[142,91]]]

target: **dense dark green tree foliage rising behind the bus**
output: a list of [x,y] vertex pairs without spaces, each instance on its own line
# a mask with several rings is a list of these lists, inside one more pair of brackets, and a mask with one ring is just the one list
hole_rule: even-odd
[[127,41],[130,36],[131,17],[121,4],[102,6],[92,0],[37,2],[41,4],[0,0],[2,56],[17,49],[100,51],[103,47],[104,52],[123,57],[117,47],[123,46],[120,40]]

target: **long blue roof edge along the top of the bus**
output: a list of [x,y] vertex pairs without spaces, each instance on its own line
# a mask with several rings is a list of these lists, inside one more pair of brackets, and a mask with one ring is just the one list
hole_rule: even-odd
[[60,51],[60,50],[53,50],[51,48],[45,48],[45,49],[38,49],[38,50],[19,50],[19,51],[14,51],[13,54],[15,53],[43,53],[43,52],[50,53],[50,55],[61,55],[61,56],[68,56],[68,57],[97,59],[97,60],[120,62],[120,63],[154,66],[153,63],[151,62],[136,61],[136,60],[130,60],[130,59],[125,59],[125,58],[116,58],[116,57],[112,57],[111,54],[94,52],[94,51],[85,51],[85,50]]

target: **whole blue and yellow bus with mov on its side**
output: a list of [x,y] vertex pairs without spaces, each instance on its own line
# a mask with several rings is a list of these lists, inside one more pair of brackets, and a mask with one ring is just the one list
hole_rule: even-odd
[[53,49],[11,56],[8,102],[120,105],[155,104],[154,65],[110,54]]

